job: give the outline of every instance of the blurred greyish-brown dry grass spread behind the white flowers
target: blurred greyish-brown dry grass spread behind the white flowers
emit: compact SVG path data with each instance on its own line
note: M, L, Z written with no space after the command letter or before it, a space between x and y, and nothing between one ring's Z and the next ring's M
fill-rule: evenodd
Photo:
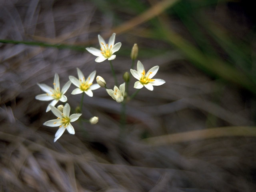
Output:
M0 39L97 45L96 35L109 34L115 27L113 16L92 1L1 0L0 4ZM132 15L113 11L118 16ZM254 124L252 96L209 78L166 43L149 42L146 32L147 26L141 25L117 34L116 40L124 49L135 42L140 49L166 49L139 58L147 69L159 65L157 78L166 84L153 92L143 89L128 103L128 124L121 136L120 104L103 88L94 91L93 98L84 100L83 116L99 116L100 122L76 122L76 134L64 132L56 143L57 129L42 125L54 116L45 113L47 102L35 100L42 93L36 84L51 84L57 72L62 86L68 75L76 76L78 67L86 76L97 70L112 87L108 63L96 64L88 52L0 45L0 191L256 190L255 131L251 127L249 134L241 133L237 127ZM130 60L118 55L113 64L121 82ZM68 102L74 107L80 97L72 96L70 90ZM228 132L208 129L222 126L230 126ZM208 136L202 136L205 132ZM171 142L170 138L156 138L167 134L179 138ZM145 137L152 137L151 144ZM154 142L158 144L152 145Z

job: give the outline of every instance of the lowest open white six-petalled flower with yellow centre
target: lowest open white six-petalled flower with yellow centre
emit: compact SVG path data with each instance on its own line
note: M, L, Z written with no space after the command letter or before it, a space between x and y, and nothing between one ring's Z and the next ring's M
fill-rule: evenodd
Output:
M62 136L62 134L64 133L64 131L66 129L68 130L68 132L70 134L75 134L74 127L71 125L70 122L74 122L74 121L78 120L78 118L82 114L75 113L75 114L69 115L70 114L70 106L68 103L64 106L63 113L52 105L50 105L50 108L52 110L52 113L58 118L46 121L44 123L44 125L49 126L49 127L59 126L59 129L55 134L54 142L56 142L56 140L58 138L60 138L60 136Z

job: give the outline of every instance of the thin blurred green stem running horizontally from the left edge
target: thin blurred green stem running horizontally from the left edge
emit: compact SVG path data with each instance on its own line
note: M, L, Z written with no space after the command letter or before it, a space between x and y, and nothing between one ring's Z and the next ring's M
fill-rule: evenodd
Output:
M42 47L54 47L58 49L73 49L78 51L84 51L84 46L75 46L75 45L67 45L67 44L48 44L43 42L33 42L33 41L15 41L8 39L0 39L0 43L12 43L12 44L25 44L31 46L42 46Z

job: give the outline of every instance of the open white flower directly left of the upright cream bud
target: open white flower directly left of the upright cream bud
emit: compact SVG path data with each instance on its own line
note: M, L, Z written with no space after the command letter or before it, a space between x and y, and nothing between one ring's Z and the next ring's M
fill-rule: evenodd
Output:
M80 94L82 92L85 92L88 96L92 97L93 93L92 90L96 90L98 88L100 88L100 86L98 84L92 84L95 75L96 75L96 71L93 71L88 78L85 80L84 78L84 74L81 72L80 69L77 69L77 74L78 74L78 78L75 78L74 76L69 76L69 80L78 88L74 89L72 91L72 95L76 95L76 94Z

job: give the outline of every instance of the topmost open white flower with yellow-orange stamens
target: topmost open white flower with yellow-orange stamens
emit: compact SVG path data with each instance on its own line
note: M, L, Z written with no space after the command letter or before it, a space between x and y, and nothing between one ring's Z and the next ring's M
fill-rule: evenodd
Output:
M114 44L115 37L116 37L116 34L113 33L112 36L109 38L108 44L106 44L106 42L104 41L102 36L98 35L98 39L99 39L99 43L100 43L100 50L93 48L93 47L86 48L86 50L88 52L90 52L91 54L97 56L95 61L98 63L100 63L106 59L113 60L116 58L116 55L113 55L113 54L115 52L117 52L122 45L120 42Z

